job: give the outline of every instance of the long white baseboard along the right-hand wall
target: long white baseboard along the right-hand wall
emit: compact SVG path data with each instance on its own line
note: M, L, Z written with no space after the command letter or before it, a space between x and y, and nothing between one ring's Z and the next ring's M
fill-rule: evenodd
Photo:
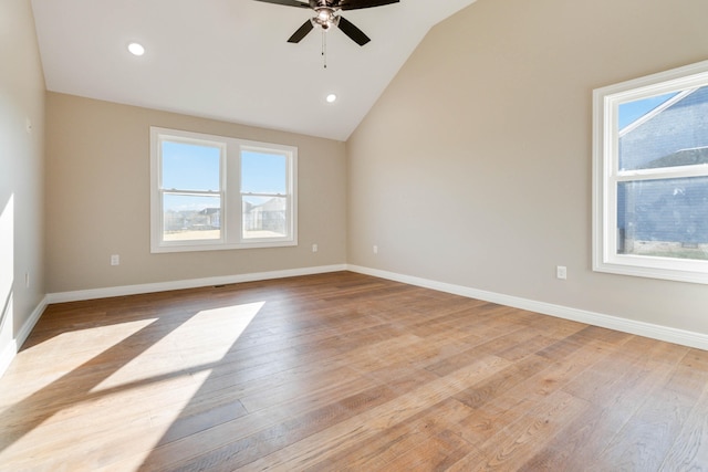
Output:
M514 308L528 310L530 312L555 316L558 318L570 319L570 321L585 323L593 326L600 326L600 327L615 329L623 333L629 333L638 336L649 337L653 339L665 340L667 343L675 343L675 344L680 344L683 346L696 347L698 349L708 350L708 335L702 333L677 329L669 326L655 325L652 323L637 322L634 319L604 315L601 313L589 312L585 310L577 310L577 308L571 308L562 305L554 305L551 303L537 302L533 300L521 298L518 296L503 295L500 293L487 292L482 290L470 289L462 285L455 285L455 284L448 284L444 282L431 281L428 279L414 277L410 275L403 275L395 272L362 268L358 265L347 265L347 270L352 272L358 272L362 274L381 277L381 279L402 282L409 285L416 285L425 289L437 290L440 292L452 293L456 295L467 296L470 298L483 300L486 302L498 303L500 305L512 306Z

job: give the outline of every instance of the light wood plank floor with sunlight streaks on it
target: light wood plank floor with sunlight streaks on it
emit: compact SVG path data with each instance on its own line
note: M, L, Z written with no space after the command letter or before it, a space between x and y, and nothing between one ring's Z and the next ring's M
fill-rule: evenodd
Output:
M347 272L67 303L0 379L0 470L708 470L707 380L702 350Z

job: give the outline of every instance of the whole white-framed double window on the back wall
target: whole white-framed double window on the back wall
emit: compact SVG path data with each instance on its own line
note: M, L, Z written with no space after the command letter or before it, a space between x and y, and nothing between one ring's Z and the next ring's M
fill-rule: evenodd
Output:
M295 245L296 156L150 127L152 252Z

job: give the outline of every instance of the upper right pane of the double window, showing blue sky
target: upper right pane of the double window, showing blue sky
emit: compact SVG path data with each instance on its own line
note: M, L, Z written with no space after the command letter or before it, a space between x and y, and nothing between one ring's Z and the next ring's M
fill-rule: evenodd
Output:
M241 153L241 192L288 192L288 158L279 154L244 150Z

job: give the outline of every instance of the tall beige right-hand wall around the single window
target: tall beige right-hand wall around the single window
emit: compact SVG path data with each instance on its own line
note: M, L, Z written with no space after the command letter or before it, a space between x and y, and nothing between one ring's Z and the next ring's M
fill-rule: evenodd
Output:
M707 18L479 0L438 24L347 141L347 261L708 333L708 286L591 269L592 91L708 59Z

